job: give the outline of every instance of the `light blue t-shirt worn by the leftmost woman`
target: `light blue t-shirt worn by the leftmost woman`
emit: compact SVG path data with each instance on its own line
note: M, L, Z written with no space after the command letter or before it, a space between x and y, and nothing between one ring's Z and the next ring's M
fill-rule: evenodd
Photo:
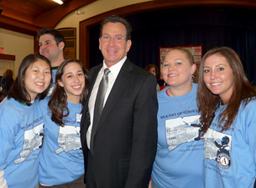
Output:
M39 182L44 124L38 102L27 106L5 98L0 104L0 170L8 188L34 188Z

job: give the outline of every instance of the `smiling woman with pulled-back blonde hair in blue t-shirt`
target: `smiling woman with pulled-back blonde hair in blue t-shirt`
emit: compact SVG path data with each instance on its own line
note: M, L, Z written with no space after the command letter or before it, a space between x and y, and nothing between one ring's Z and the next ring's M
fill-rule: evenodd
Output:
M196 105L196 70L192 54L171 48L162 74L169 85L158 93L158 150L152 171L152 188L202 188L203 141Z

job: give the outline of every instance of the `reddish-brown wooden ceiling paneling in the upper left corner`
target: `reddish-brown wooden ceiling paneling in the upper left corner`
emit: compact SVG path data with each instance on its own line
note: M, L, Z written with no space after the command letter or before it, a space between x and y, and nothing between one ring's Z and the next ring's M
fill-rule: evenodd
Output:
M0 8L3 9L0 15L0 28L36 36L39 28L55 28L67 14L95 1L97 0L66 0L67 3L47 11L49 8L45 9L43 6L47 1L42 3L33 0L34 3L31 3L31 0L0 0ZM10 5L12 3L13 7Z

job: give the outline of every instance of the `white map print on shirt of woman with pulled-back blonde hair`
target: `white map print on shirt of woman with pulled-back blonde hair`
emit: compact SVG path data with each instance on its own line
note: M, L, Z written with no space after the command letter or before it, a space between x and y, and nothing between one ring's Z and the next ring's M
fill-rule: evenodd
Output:
M200 115L165 120L165 134L168 150L179 145L201 140Z

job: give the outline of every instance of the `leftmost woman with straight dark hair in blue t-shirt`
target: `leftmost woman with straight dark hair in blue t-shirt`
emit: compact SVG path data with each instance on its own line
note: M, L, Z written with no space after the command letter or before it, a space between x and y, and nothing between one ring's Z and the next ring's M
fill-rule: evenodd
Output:
M38 105L50 83L50 61L39 54L26 56L0 104L0 187L34 188L39 182L44 130Z

